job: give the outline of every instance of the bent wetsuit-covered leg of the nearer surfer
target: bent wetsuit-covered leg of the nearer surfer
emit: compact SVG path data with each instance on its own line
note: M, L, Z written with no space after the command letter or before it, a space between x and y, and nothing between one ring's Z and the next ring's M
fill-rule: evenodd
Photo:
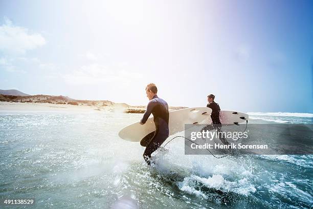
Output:
M145 161L148 163L148 165L151 164L150 162L151 154L161 146L161 144L167 139L167 137L168 130L163 131L163 133L160 132L159 130L155 131L153 138L147 145L145 152L143 154L143 157Z

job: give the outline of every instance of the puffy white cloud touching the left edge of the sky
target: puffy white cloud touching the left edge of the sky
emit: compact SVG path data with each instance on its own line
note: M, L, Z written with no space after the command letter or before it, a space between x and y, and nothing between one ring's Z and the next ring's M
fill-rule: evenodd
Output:
M4 20L4 24L0 26L0 51L5 54L25 54L28 50L46 44L46 40L40 33L14 26L7 17Z

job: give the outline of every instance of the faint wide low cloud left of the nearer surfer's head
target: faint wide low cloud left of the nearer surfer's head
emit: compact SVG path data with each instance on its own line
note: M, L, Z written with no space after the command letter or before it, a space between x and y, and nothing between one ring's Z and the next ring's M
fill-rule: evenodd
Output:
M142 78L142 74L130 72L117 67L107 67L100 64L82 66L70 74L62 76L66 83L71 85L93 85L98 83L119 83L127 85Z

